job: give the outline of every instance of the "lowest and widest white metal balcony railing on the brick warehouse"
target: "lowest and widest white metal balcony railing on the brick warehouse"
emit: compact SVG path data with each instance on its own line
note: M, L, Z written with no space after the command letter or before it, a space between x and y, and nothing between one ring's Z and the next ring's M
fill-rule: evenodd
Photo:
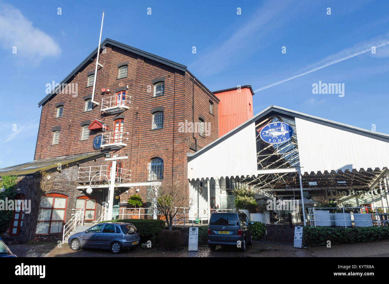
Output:
M102 182L111 176L109 165L79 167L77 180L79 182ZM126 184L131 181L131 170L116 167L115 183Z

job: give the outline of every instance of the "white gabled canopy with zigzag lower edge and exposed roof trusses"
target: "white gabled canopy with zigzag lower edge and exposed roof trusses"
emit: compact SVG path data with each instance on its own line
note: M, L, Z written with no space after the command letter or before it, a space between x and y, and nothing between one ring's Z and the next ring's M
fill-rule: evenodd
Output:
M287 123L291 139L259 137L269 123ZM389 166L389 135L270 106L194 154L188 179L234 177L257 188L370 187Z

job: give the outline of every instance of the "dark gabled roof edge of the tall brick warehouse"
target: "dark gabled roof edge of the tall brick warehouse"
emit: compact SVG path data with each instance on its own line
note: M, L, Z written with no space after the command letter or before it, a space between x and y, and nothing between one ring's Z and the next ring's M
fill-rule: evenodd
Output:
M158 56L158 55L155 55L155 54L152 54L152 53L149 53L149 52L146 52L144 50L140 50L138 48L135 48L135 47L132 47L130 45L126 45L124 43L121 43L121 42L117 42L116 40L111 40L110 38L106 38L100 45L100 48L105 46L105 45L112 45L114 47L118 47L118 48L121 48L123 50L126 50L126 51L129 51L129 52L133 52L135 54L138 54L140 56L143 56L145 58L148 58L148 59L151 59L153 61L156 61L156 62L159 62L161 64L164 64L166 66L169 66L169 67L172 67L172 68L175 68L179 71L182 71L182 72L188 72L191 76L193 76L193 74L191 74L185 65L182 65L180 63L177 63L177 62L174 62L174 61L171 61L169 59L166 59L166 58L163 58L161 56ZM75 74L77 74L82 68L84 68L86 65L90 64L90 60L94 60L94 57L97 55L97 48L95 48L95 50L93 50L93 52L91 54L89 54L72 72L70 72L68 74L68 76L66 76L65 79L63 79L60 83L60 85L62 84L65 84L65 83L68 83L70 82L72 79L73 79L73 76ZM208 90L211 94L212 92L207 88L205 87L205 85L203 85L203 83L201 83L195 76L193 76L196 81L198 81L206 90ZM44 97L39 103L38 103L38 107L42 106L43 104L45 104L53 95L55 95L55 90L56 88L54 88L49 94L46 95L46 97ZM212 94L213 95L213 94ZM219 101L219 99L217 99L217 97L214 95L215 99L217 101Z

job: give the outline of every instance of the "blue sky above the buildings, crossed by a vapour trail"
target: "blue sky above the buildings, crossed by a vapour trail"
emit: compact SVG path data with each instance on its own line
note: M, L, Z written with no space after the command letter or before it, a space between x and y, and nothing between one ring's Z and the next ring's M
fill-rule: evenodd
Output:
M102 40L184 64L210 90L261 89L254 114L273 104L389 133L388 1L0 0L0 168L33 160L37 103L96 48L102 10ZM312 94L319 81L344 97Z

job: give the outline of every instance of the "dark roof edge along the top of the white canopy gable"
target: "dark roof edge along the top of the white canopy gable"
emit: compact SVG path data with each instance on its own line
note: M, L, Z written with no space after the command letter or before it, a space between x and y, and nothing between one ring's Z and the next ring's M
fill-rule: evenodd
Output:
M197 151L197 152L195 152L193 154L187 154L187 161L189 162L192 159L194 159L195 157L197 157L197 156L203 154L204 152L212 149L212 147L214 147L217 144L221 143L222 141L228 139L229 137L231 137L235 133L239 132L240 130L244 129L246 126L250 125L251 123L253 123L253 122L255 122L255 121L257 121L257 120L259 120L261 118L265 118L265 117L276 115L276 114L285 116L287 118L301 118L301 119L305 119L307 121L312 121L312 122L315 122L315 123L319 123L321 125L326 125L326 126L330 126L330 127L336 128L336 129L345 130L345 131L348 131L348 132L356 133L356 134L363 135L363 136L366 136L366 137L370 137L370 138L373 138L373 139L381 140L381 141L384 141L384 142L389 142L389 135L385 134L385 133L374 132L374 131L366 130L366 129L359 128L359 127L356 127L356 126L347 125L347 124L344 124L344 123L340 123L340 122L336 122L336 121L332 121L332 120L328 120L328 119L324 119L324 118L319 118L317 116L312 116L312 115L309 115L309 114L300 113L298 111L292 111L291 109L286 109L284 107L269 106L266 109L264 109L263 111L261 111L260 113L256 114L252 118L250 118L249 120L245 121L241 125L239 125L236 128L234 128L230 132L228 132L228 133L224 134L223 136L219 137L219 139L216 139L212 143L210 143L207 146L203 147L199 151Z

